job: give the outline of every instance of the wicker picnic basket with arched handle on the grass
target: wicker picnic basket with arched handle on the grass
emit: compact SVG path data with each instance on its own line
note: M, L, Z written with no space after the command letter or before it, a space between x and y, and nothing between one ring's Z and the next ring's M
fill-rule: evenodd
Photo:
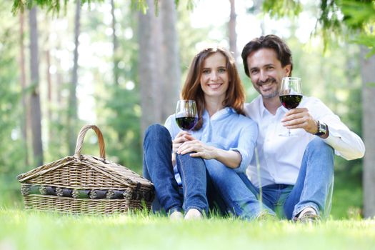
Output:
M86 131L94 129L100 158L81 154ZM95 125L79 131L74 156L17 176L26 209L73 214L113 214L151 209L154 185L134 171L106 159L104 139Z

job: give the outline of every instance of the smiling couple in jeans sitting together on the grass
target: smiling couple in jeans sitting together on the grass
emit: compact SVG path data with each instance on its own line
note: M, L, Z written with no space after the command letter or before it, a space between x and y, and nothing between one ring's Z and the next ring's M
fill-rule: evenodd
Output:
M153 209L171 219L200 219L214 208L247 220L327 216L334 154L360 158L363 141L319 99L281 106L281 79L291 76L293 62L278 36L250 41L241 56L260 94L250 104L229 51L204 49L181 91L181 99L196 101L197 125L182 131L173 114L147 129L144 176L156 189Z

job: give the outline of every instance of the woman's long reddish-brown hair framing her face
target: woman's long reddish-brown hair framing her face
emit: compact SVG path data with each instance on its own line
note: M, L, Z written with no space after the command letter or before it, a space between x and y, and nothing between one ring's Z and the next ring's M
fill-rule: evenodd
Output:
M201 74L204 66L204 60L216 52L219 52L225 56L226 70L228 71L229 76L229 87L226 90L223 106L229 106L236 110L238 114L244 114L245 91L244 86L241 84L241 79L239 77L239 72L237 71L233 56L231 56L229 51L226 51L226 49L221 47L207 48L194 56L193 61L191 61L184 87L181 91L181 99L196 101L196 109L198 110L199 119L198 123L194 127L194 130L201 129L203 125L202 116L205 105L204 92L201 89Z

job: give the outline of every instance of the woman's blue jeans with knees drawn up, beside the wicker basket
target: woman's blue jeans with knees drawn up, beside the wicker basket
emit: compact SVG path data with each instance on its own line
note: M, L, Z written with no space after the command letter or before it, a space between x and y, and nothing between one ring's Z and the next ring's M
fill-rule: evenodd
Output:
M206 164L189 154L176 155L176 166L181 176L182 188L174 179L171 164L172 140L169 131L159 124L149 126L144 137L144 177L154 183L156 199L154 211L164 209L189 211L198 209L208 213L209 205L223 206L211 185Z

